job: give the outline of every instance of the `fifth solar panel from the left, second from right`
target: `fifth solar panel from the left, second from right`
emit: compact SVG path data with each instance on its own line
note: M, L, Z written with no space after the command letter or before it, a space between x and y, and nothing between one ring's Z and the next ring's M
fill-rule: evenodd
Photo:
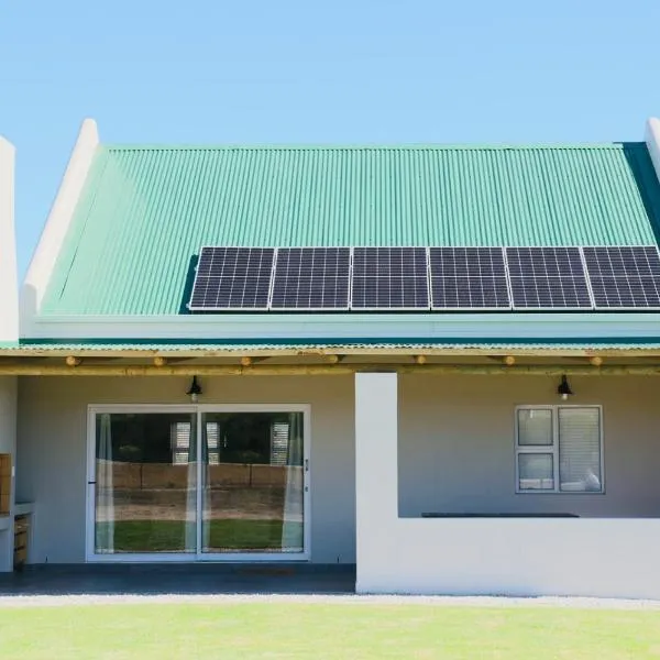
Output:
M593 307L579 248L507 248L514 309Z

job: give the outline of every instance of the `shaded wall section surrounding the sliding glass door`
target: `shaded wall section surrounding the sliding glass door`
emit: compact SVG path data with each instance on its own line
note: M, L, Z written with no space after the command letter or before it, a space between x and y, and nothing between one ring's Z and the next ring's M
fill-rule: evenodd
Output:
M311 559L355 561L351 377L205 378L200 403L311 405ZM32 561L85 561L87 406L188 404L188 378L23 378L16 487L35 503Z

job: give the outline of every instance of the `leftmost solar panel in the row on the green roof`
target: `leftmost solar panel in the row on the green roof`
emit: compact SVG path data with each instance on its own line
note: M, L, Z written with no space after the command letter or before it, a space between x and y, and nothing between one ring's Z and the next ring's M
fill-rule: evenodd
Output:
M267 309L274 255L273 248L202 248L188 308Z

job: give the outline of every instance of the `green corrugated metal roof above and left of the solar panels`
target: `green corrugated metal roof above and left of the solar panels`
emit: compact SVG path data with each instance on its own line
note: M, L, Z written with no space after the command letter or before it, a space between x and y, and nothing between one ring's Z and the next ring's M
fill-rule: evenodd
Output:
M659 211L642 143L101 146L42 314L177 314L204 244L649 244Z

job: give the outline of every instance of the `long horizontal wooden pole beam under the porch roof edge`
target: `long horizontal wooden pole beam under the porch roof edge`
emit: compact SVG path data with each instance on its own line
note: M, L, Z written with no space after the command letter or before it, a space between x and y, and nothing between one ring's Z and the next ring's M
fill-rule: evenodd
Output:
M399 374L437 375L535 375L535 376L660 376L657 365L603 365L595 370L591 364L564 366L506 366L504 364L263 364L242 366L238 364L87 364L76 369L62 364L13 363L0 364L0 375L14 376L280 376L280 375L352 375L356 372L393 372Z

